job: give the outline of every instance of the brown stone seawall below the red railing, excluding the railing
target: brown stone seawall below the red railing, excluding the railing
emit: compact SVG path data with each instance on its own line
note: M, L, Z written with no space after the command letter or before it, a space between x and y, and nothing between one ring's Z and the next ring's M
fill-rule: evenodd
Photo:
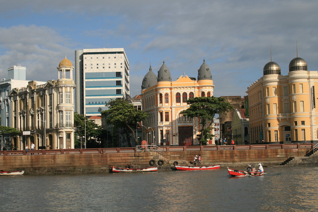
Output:
M201 154L202 165L220 164L221 167L239 167L247 164L262 163L263 166L280 165L289 157L304 157L310 149L263 149L263 150L220 150L220 151L180 151L130 153L86 153L86 154L45 154L1 156L0 169L4 171L24 170L25 173L105 173L111 166L149 167L149 161L156 161L159 169L170 169L173 163L190 165L195 155ZM312 157L315 157L313 155ZM308 160L311 157L305 157ZM164 164L159 166L158 160ZM297 165L308 164L308 161L297 160ZM313 162L314 161L314 162ZM317 164L317 159L310 165ZM292 165L292 164L290 164Z

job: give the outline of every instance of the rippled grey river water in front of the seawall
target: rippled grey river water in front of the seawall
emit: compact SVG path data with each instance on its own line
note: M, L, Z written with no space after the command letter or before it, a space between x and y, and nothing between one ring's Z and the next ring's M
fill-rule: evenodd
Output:
M1 211L318 211L318 166L0 176Z

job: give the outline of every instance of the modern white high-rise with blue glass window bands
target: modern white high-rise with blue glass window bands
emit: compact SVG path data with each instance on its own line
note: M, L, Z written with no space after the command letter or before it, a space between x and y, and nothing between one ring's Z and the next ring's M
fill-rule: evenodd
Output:
M75 110L100 116L111 99L129 94L129 63L123 48L75 51Z

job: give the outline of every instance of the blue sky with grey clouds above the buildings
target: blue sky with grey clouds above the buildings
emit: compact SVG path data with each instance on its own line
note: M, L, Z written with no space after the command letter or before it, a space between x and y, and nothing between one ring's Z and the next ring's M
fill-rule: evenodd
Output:
M297 56L318 70L318 1L0 0L0 78L26 67L27 80L57 80L75 50L124 48L131 95L151 64L165 61L176 81L210 67L214 96L244 96L277 62L283 75Z

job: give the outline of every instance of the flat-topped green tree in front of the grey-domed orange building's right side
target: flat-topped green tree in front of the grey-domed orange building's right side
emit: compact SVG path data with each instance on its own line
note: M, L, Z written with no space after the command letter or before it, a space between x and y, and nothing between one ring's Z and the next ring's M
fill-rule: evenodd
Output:
M208 139L211 139L214 135L210 133L213 124L213 118L215 114L226 113L234 110L230 102L225 102L225 98L222 97L195 97L188 99L187 103L190 107L187 110L183 110L181 114L188 117L197 117L199 124L202 128L199 131L200 145L206 144ZM208 123L207 123L208 122Z

